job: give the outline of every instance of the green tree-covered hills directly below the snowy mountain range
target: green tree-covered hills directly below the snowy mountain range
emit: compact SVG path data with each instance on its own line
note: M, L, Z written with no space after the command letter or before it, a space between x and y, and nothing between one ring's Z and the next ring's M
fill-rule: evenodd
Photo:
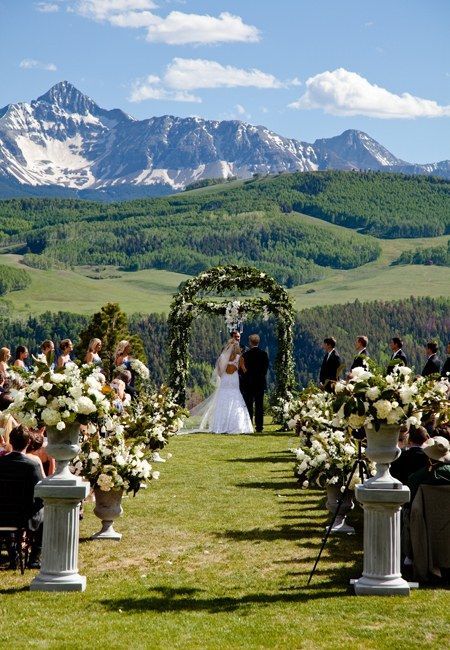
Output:
M378 258L376 237L450 232L450 183L378 172L308 172L203 187L154 199L102 204L75 199L0 202L0 241L24 243L30 266L115 265L195 275L251 264L293 286L323 267ZM298 213L349 228L333 233ZM356 229L359 233L351 232Z

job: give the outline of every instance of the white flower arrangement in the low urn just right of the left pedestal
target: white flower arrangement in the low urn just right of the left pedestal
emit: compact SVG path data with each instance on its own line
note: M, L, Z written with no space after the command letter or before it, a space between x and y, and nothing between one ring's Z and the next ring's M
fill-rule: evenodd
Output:
M159 478L159 472L152 470L149 461L150 455L143 444L128 446L121 435L93 436L81 445L74 469L92 487L104 492L124 490L136 494L150 480Z

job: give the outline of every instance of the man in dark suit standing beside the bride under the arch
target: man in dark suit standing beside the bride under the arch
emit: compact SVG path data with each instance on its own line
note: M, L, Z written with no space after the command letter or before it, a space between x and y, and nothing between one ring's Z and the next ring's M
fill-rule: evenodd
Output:
M259 335L251 334L248 337L250 348L242 355L243 373L241 391L247 405L250 419L253 421L255 414L255 430L263 430L264 417L264 391L266 389L266 375L269 369L267 352L259 347Z

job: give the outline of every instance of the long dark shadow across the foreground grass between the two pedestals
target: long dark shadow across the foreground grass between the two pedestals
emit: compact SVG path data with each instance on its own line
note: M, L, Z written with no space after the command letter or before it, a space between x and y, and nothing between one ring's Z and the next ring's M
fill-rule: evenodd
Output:
M346 569L346 575L348 569ZM314 599L340 598L347 595L348 589L339 588L335 581L321 582L320 588L297 587L294 593L253 593L245 596L216 596L202 597L201 589L170 589L154 587L151 592L155 595L144 598L108 598L101 600L100 604L110 611L123 612L200 612L210 614L219 612L233 612L252 605L271 605L274 603L301 603ZM328 587L328 588L325 588ZM338 588L338 590L337 590Z

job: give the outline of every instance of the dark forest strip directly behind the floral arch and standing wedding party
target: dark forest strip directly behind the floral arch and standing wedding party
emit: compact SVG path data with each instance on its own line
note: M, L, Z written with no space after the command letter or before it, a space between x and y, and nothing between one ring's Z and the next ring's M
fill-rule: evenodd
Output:
M59 312L46 313L39 318L18 320L5 313L0 315L2 345L14 348L27 345L37 351L46 338L56 342L66 336L77 340L78 332L86 327L89 318ZM167 319L163 315L135 314L129 319L130 331L139 334L144 343L152 379L161 383L167 373ZM261 334L262 346L275 358L275 323L249 322L245 324L243 340L252 331ZM445 356L445 345L450 336L450 299L410 298L398 302L360 303L331 307L316 307L297 314L295 324L295 363L297 377L305 385L316 379L323 357L321 342L325 336L335 336L338 349L347 367L354 356L354 341L360 334L369 337L372 358L386 364L392 336L404 339L404 350L410 363L420 370L425 361L424 343L429 339L439 342L440 354ZM202 389L208 384L211 368L227 336L220 318L199 318L192 329L191 352L194 361L191 384Z

